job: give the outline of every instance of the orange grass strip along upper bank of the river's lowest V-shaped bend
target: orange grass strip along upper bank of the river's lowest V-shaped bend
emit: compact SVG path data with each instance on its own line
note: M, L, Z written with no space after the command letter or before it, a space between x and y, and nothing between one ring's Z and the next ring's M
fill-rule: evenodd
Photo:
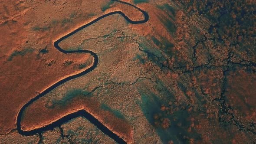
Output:
M105 111L95 98L78 95L68 101L66 105L55 105L54 108L46 108L46 101L36 101L24 111L21 127L24 131L42 128L47 124L79 110L88 111L108 129L123 138L128 144L132 143L133 130L125 120L115 117L110 111Z

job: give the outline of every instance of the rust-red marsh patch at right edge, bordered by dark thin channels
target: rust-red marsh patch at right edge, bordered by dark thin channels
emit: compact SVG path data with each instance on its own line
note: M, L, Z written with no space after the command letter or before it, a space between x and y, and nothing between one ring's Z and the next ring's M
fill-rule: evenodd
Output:
M233 113L246 121L256 121L256 74L238 68L227 76L225 96Z

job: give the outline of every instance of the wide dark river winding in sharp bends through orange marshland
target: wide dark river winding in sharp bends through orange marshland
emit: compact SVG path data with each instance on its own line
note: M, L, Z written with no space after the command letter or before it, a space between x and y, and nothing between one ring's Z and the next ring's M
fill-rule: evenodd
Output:
M35 98L32 98L29 102L27 102L25 105L23 105L23 107L20 109L19 113L18 113L18 116L17 116L17 121L16 121L16 124L17 124L17 130L20 134L23 134L23 135L33 135L33 134L36 134L36 133L42 133L43 131L46 131L46 130L51 130L55 127L58 127L60 125L62 125L63 123L71 120L72 118L76 118L76 117L79 117L79 116L83 116L85 117L86 119L88 119L92 124L94 124L99 130L101 130L103 133L107 134L109 137L111 137L113 140L115 140L116 142L118 142L119 144L126 144L126 142L118 137L117 134L115 134L114 132L112 132L111 130L109 130L107 127L105 127L105 125L103 125L100 121L98 121L98 119L96 119L93 115L91 115L90 113L88 113L87 111L85 110L80 110L80 111L77 111L75 113L72 113L72 114L69 114L69 115L66 115L62 118L60 118L59 120L51 123L51 124L48 124L46 125L45 127L42 127L42 128L37 128L37 129L34 129L34 130L31 130L31 131L23 131L21 129L21 117L22 117L22 114L24 112L24 110L30 105L32 104L34 101L38 100L40 97L43 97L44 95L46 95L48 92L52 91L54 88L58 87L59 85L63 84L64 82L67 82L71 79L75 79L79 76L82 76L82 75L85 75L89 72L91 72L93 69L95 69L98 65L98 56L96 55L96 53L90 51L90 50L73 50L73 51L66 51L64 49L62 49L60 46L59 46L59 43L68 38L69 36L72 36L73 34L77 33L78 31L84 29L85 27L87 26L90 26L96 22L98 22L99 20L107 17L107 16L111 16L113 14L120 14L121 16L123 16L125 18L125 20L127 20L129 23L132 23L132 24L140 24L140 23L146 23L149 19L149 16L148 16L148 13L146 13L145 11L141 10L140 8L130 4L130 3L126 3L126 2L123 2L123 1L119 1L119 0L112 0L112 1L117 1L119 3L124 3L124 4L127 4L131 7L135 7L137 10L141 11L144 15L144 20L139 20L139 21L132 21L130 20L127 16L125 16L124 13L122 13L121 11L114 11L114 12L111 12L111 13L107 13L103 16L100 16L98 17L97 19L95 20L92 20L90 23L87 23L81 27L79 27L78 29L75 29L74 31L72 31L71 33L67 34L66 36L63 36L61 37L60 39L58 39L56 42L54 42L54 46L56 49L58 49L60 52L64 53L64 54L70 54L70 53L90 53L93 58L94 58L94 63L92 65L92 67L90 67L89 69L86 69L85 71L79 73L79 74L76 74L76 75L72 75L72 76L69 76L65 79L62 79L60 80L59 82L56 82L55 84L53 84L52 86L50 86L49 88L47 88L45 91L43 91L42 93L40 93L39 95L37 95Z

